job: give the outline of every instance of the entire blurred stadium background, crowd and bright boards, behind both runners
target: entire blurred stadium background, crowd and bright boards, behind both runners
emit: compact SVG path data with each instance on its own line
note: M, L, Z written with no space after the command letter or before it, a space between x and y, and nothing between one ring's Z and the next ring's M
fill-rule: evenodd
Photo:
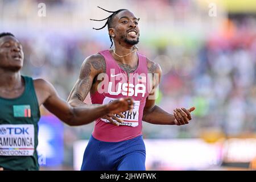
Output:
M195 106L185 126L143 122L147 170L256 169L255 0L0 0L0 32L22 43L23 75L66 100L84 59L109 49L107 10L141 18L139 52L163 70L157 104ZM90 98L86 99L90 102ZM79 170L90 125L70 127L41 107L41 170Z

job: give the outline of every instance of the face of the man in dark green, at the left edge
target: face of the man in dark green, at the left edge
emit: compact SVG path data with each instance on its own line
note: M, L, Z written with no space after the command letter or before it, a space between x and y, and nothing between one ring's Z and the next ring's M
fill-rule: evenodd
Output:
M19 71L23 66L24 53L19 41L13 36L0 38L0 67Z

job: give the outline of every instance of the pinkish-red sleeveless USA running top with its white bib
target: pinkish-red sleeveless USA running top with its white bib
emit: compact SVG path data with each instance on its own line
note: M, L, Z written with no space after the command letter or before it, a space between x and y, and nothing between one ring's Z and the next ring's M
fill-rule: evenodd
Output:
M96 119L92 135L104 142L120 142L138 137L142 134L143 108L149 90L146 57L138 53L137 69L127 74L109 50L101 51L100 54L106 61L106 74L98 75L98 79L104 80L98 85L97 91L91 94L92 104L108 104L121 97L132 97L135 105L132 112L123 112L125 118L122 126L115 126L105 119Z

